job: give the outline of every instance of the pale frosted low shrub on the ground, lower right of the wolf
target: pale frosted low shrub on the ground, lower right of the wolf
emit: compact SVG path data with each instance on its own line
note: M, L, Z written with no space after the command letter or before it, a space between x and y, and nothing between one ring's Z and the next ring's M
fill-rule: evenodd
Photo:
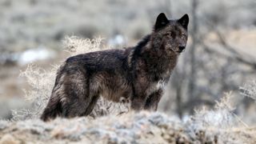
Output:
M234 130L247 129L249 126L234 114L234 96L226 93L216 101L214 109L205 106L195 110L195 114L185 122L190 138L196 138L201 143L242 143L239 138L231 134Z

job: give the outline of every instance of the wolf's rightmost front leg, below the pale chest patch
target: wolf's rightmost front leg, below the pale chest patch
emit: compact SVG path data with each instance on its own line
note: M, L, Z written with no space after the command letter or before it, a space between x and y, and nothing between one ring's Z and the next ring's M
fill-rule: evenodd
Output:
M162 98L162 89L156 90L146 99L145 110L158 110L158 102Z

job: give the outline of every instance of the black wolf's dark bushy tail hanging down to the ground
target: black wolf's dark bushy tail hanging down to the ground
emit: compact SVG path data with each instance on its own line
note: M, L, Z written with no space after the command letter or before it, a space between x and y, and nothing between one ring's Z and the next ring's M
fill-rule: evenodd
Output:
M46 122L62 114L62 103L58 97L51 97L40 119Z

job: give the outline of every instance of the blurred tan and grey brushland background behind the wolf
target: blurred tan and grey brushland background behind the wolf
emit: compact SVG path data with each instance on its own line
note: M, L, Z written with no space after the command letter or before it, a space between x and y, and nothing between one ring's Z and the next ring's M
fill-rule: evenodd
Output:
M234 113L256 123L256 104L240 90L256 80L255 0L0 0L0 118L29 107L21 70L31 62L46 70L59 63L66 35L134 46L161 12L189 14L190 38L159 109L184 118L232 91Z

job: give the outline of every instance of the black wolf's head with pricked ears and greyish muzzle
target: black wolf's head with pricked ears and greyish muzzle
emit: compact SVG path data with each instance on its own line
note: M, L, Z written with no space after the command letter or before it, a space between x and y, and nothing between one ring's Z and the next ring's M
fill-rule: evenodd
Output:
M154 47L165 50L166 54L182 53L186 48L188 23L187 14L175 20L168 20L165 14L159 14L152 34Z

